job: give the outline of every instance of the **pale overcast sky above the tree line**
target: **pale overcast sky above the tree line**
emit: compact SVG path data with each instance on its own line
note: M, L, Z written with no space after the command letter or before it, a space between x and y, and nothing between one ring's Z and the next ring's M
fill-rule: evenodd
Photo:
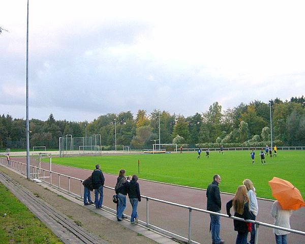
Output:
M183 2L183 4L181 3ZM29 117L193 115L305 95L303 1L29 1ZM25 118L26 0L1 4L0 113Z

